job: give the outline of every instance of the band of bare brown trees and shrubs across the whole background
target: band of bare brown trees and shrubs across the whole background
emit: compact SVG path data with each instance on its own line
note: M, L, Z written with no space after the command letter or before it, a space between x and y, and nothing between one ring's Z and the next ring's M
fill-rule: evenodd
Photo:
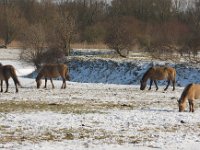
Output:
M200 48L200 0L186 2L0 0L1 45L20 41L22 58L37 67L69 56L71 44L81 42L105 43L122 57L137 45L155 57L192 58Z

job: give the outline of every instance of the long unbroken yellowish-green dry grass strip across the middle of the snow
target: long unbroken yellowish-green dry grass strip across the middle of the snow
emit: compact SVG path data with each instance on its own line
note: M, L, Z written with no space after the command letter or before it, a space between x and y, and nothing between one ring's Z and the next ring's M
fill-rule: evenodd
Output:
M45 103L45 102L23 102L23 101L4 101L0 103L0 112L39 112L52 111L60 113L103 113L110 109L128 109L137 108L134 104L120 103Z

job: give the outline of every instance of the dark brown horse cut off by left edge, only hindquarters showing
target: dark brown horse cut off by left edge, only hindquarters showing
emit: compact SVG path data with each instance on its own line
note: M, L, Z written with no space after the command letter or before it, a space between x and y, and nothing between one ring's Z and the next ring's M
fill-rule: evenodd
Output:
M3 92L3 80L5 80L6 82L6 92L8 92L8 87L9 87L9 83L8 80L10 79L10 77L13 79L14 83L15 83L15 88L16 88L16 92L18 92L18 85L21 86L16 72L15 72L15 68L12 65L2 65L0 63L0 80L1 80L1 92Z

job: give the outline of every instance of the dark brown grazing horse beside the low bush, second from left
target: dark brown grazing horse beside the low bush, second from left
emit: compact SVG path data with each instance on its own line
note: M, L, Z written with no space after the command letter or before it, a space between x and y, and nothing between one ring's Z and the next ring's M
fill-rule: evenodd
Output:
M45 78L45 86L44 88L47 87L47 78L50 79L52 88L54 88L54 84L52 81L52 78L56 77L62 77L63 84L61 86L62 89L66 88L66 80L69 80L69 72L68 72L68 67L65 64L46 64L42 66L40 72L38 73L36 77L36 83L37 83L37 88L40 88L42 82L41 78Z

